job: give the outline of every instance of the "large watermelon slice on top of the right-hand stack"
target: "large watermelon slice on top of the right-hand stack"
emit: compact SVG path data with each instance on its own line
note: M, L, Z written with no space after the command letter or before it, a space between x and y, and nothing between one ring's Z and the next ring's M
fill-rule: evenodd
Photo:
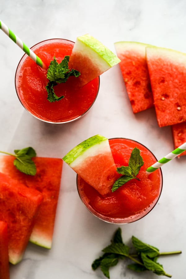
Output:
M160 127L186 121L186 54L146 47L157 122Z

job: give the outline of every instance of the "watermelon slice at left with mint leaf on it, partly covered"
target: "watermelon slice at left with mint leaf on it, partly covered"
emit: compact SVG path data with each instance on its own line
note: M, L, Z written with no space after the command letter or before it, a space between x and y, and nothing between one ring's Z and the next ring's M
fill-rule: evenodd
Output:
M43 202L35 219L30 241L50 249L63 161L59 158L35 157L33 161L37 172L31 176L17 170L13 165L14 159L13 156L0 156L0 171L42 193Z

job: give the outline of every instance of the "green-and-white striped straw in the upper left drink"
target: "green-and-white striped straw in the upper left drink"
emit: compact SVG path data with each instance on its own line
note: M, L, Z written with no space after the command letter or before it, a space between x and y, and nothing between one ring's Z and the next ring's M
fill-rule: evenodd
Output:
M29 57L42 69L47 69L46 65L42 62L42 60L27 47L24 42L20 40L8 27L0 20L0 29L9 37L13 42L16 43Z

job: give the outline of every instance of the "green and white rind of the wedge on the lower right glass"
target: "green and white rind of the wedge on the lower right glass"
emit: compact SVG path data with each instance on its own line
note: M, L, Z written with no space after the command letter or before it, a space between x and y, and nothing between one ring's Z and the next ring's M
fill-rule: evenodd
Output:
M105 141L108 141L108 139L102 135L92 136L75 146L62 159L68 165L73 167L74 165L79 164L80 161L83 161L85 157L96 153L98 149L101 150L102 144L104 144Z

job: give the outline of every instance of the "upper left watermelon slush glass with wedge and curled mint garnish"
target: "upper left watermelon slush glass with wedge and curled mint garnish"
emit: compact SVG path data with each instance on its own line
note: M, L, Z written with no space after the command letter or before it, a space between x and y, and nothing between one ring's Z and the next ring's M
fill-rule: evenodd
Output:
M15 88L24 108L50 123L71 122L83 116L94 104L100 74L120 60L89 34L76 42L50 39L31 50L46 69L26 54L15 74Z

